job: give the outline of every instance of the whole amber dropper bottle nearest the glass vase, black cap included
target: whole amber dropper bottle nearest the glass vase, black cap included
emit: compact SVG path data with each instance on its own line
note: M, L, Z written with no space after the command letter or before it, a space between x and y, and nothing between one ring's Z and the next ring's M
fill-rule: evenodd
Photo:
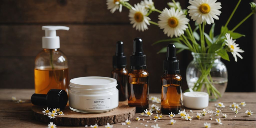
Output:
M177 114L182 108L182 77L179 75L179 60L174 44L167 45L164 60L164 75L161 77L161 110Z

